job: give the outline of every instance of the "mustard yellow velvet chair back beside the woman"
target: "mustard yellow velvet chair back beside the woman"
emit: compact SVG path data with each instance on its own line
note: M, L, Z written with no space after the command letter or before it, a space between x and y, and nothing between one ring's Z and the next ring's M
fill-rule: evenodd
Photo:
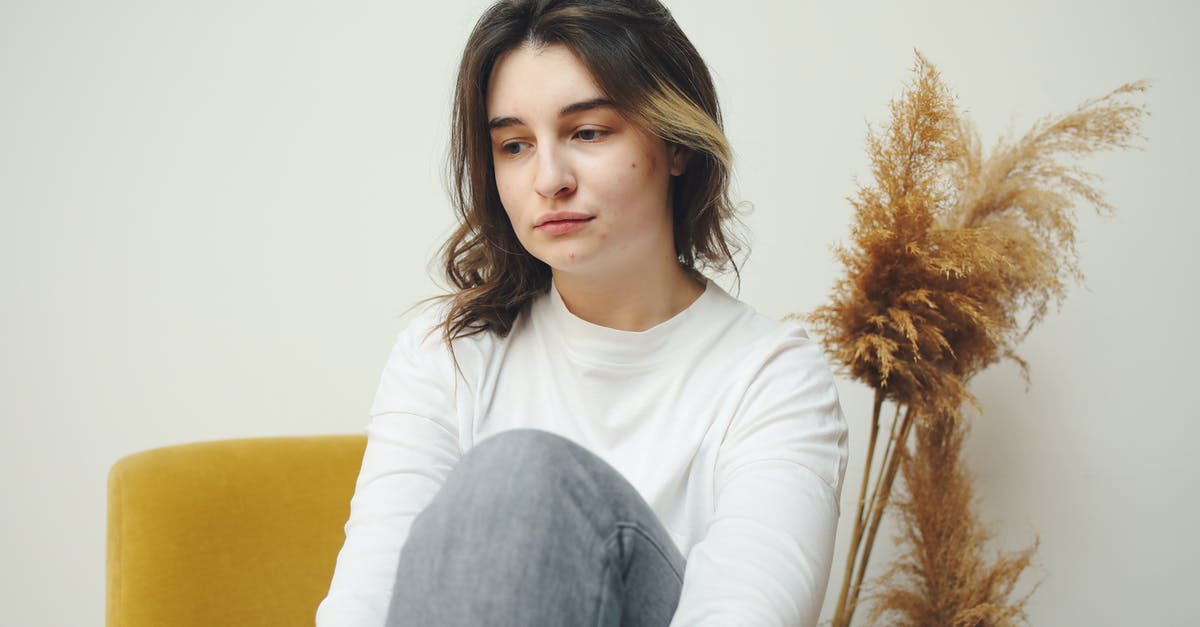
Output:
M108 478L108 627L312 625L362 436L229 440L121 459Z

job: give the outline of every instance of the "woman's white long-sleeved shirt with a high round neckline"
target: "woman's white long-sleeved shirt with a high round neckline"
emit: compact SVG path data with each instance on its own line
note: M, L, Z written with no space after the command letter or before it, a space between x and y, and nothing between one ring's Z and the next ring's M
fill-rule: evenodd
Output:
M833 559L846 424L820 347L708 282L644 332L574 316L553 288L505 338L402 332L367 425L320 627L382 627L413 518L488 436L542 429L616 467L686 557L672 627L812 626Z

